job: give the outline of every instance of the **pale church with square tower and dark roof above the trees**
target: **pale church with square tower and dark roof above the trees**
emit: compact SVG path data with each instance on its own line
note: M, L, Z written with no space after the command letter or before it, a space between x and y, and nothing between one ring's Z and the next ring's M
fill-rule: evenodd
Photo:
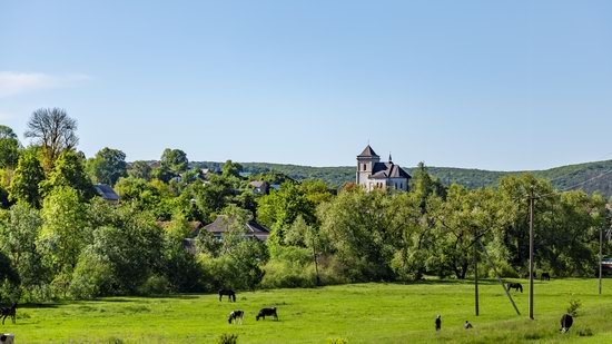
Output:
M393 164L391 154L388 163L381 163L381 157L367 145L357 156L357 181L366 191L408 190L411 175L398 165Z

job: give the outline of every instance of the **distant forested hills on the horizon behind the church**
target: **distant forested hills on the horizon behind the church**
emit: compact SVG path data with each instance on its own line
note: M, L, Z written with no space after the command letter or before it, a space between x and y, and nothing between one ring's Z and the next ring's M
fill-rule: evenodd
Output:
M203 165L209 165L204 163ZM344 183L355 180L355 167L310 167L298 165L282 165L267 163L241 163L244 171L258 174L264 171L278 171L300 180L306 178L323 179L334 187ZM428 171L442 183L450 185L457 183L470 188L483 186L496 186L501 177L512 174L532 173L536 177L546 178L553 181L557 189L567 189L579 185L578 188L586 193L595 190L605 196L612 196L612 160L567 165L545 170L532 171L492 171L482 169L453 168L453 167L427 167ZM414 168L408 169L411 173Z

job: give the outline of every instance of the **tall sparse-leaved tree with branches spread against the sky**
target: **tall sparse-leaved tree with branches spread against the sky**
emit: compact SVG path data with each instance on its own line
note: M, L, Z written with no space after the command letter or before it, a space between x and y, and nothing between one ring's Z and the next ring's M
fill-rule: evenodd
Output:
M50 170L62 151L77 147L77 120L60 108L41 108L28 121L26 137L42 148L45 168Z

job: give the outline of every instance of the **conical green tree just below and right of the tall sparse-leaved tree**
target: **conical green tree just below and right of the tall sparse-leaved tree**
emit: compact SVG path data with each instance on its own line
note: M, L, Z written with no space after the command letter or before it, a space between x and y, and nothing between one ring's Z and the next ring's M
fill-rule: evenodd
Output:
M82 199L89 199L96 195L85 170L85 159L73 150L66 150L59 156L49 178L41 183L40 187L46 194L57 187L71 187Z

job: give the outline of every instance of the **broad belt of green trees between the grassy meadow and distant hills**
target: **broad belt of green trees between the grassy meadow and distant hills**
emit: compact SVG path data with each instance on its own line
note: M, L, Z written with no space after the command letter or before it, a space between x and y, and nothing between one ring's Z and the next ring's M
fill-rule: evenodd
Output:
M61 109L37 110L28 128L23 147L0 127L2 301L466 278L474 255L484 259L475 239L503 276L519 276L532 194L536 268L593 276L599 233L610 227L601 195L560 193L531 175L467 189L445 186L421 165L409 193L330 190L279 173L244 177L230 160L205 173L179 149L158 163L128 164L111 148L88 159L76 149L77 122ZM251 180L280 188L257 194ZM120 203L98 197L95 183L113 186ZM218 215L229 228L223 240L200 225ZM272 229L266 243L246 238L253 219Z

